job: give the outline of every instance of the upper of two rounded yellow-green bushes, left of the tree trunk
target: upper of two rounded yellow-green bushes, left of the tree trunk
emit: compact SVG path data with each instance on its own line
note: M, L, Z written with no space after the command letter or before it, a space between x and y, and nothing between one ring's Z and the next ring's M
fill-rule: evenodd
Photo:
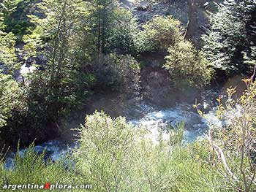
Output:
M170 16L157 16L143 24L136 41L140 52L166 52L181 41L181 22Z

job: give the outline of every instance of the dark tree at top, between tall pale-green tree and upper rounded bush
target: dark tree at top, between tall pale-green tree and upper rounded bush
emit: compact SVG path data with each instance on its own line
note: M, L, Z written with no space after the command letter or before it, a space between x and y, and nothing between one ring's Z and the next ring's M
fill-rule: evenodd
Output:
M89 26L94 34L97 58L113 52L127 53L133 49L137 23L132 13L117 0L93 0Z

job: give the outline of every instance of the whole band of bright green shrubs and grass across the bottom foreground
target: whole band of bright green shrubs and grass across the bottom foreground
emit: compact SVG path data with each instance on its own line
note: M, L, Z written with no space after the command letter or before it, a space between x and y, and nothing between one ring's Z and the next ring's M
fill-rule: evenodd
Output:
M170 141L160 137L156 143L148 138L146 130L128 124L125 118L113 119L95 112L80 128L80 147L71 156L75 167L67 169L63 161L45 162L43 154L38 155L30 147L23 158L16 155L14 169L6 170L0 162L0 185L91 184L90 191L95 192L238 191L222 174L225 168L212 161L210 143L203 140L182 145L183 131L181 123L172 131Z

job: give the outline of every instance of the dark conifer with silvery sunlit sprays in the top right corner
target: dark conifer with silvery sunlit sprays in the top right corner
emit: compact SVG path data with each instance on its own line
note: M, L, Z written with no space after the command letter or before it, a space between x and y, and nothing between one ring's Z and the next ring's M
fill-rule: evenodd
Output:
M255 20L255 1L224 1L204 38L204 49L215 68L233 74L246 71L246 63L255 62Z

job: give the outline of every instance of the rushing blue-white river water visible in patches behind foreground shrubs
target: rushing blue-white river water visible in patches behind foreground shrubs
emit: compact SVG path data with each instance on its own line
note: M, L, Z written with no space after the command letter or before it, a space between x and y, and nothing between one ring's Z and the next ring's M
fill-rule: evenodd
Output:
M208 95L217 95L217 93L212 94L212 91L208 91ZM204 101L204 106L208 106L213 98ZM215 116L216 104L211 103L211 109L208 110L206 115L202 118L197 114L195 109L193 109L192 104L176 104L176 107L165 107L165 109L156 109L141 101L136 108L127 109L129 112L127 114L132 114L140 112L139 117L132 117L132 115L127 115L127 121L136 126L143 126L148 129L148 137L153 141L159 139L159 133L162 132L163 139L170 139L168 134L168 128L170 126L176 127L177 123L184 122L184 142L193 142L200 137L204 137L208 132L208 128L211 124L222 126L222 122ZM58 161L72 149L79 145L78 142L72 142L71 145L59 140L53 140L45 142L42 145L34 146L34 150L41 154L45 150L45 159L51 158L52 161ZM18 150L19 155L23 156L26 149ZM12 169L15 166L15 153L12 152L8 155L5 168Z

